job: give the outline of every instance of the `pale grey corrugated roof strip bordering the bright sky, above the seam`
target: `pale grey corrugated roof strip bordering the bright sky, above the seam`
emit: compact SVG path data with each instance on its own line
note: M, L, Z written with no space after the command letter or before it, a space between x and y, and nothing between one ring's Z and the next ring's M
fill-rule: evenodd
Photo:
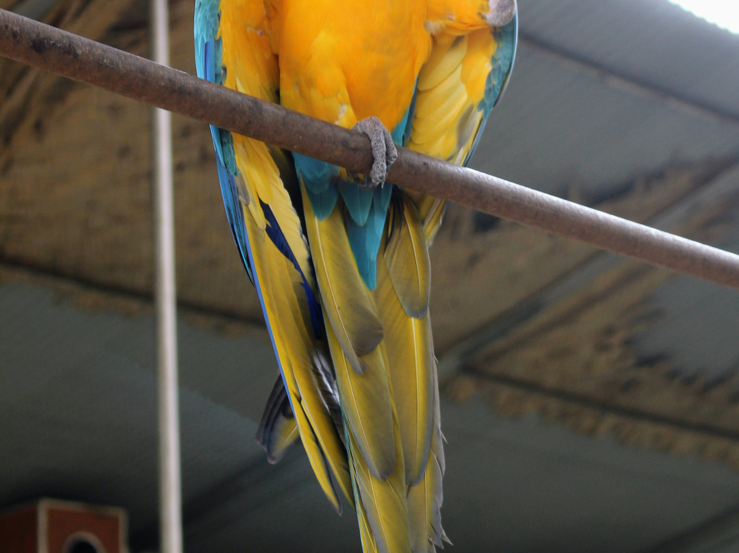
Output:
M739 118L739 35L667 0L521 0L522 38Z

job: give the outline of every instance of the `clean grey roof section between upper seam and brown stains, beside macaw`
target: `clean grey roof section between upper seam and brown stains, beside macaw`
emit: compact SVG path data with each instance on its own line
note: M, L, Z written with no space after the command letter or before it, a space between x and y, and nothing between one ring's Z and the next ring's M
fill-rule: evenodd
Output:
M739 58L739 51L738 51ZM553 194L607 197L665 166L739 155L739 125L624 89L523 43L472 165Z

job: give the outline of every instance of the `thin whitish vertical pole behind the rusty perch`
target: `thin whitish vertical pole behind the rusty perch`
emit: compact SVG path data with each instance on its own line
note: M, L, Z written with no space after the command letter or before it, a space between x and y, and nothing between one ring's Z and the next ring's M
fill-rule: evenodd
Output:
M154 61L169 65L167 0L151 1L150 40ZM160 552L183 551L180 489L180 414L177 402L177 307L174 282L171 115L152 110L154 166L154 296L157 304L159 406Z

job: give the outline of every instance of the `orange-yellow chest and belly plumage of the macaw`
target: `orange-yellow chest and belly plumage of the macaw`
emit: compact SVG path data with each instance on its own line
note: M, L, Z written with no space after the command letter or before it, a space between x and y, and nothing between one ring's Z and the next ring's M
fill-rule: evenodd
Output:
M283 0L280 101L342 126L374 115L393 129L429 56L426 0Z

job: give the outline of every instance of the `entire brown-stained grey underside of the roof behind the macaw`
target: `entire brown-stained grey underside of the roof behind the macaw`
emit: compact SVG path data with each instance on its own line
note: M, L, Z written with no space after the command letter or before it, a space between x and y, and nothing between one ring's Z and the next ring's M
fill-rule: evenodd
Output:
M146 55L143 0L0 7ZM739 37L667 0L519 7L472 166L739 251ZM123 506L154 551L149 108L0 75L0 508ZM253 440L276 362L208 129L175 117L174 147L185 549L358 550L302 450ZM432 270L453 551L739 551L736 291L458 207Z

